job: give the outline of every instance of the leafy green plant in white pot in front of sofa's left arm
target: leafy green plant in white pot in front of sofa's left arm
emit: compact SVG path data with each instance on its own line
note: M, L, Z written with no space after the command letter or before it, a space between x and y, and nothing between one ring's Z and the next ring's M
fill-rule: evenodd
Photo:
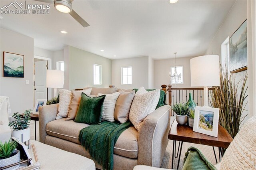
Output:
M27 141L30 139L30 113L31 110L26 110L24 116L14 113L12 117L14 117L15 121L9 123L9 127L12 127L12 136L15 138L21 139L21 142Z

